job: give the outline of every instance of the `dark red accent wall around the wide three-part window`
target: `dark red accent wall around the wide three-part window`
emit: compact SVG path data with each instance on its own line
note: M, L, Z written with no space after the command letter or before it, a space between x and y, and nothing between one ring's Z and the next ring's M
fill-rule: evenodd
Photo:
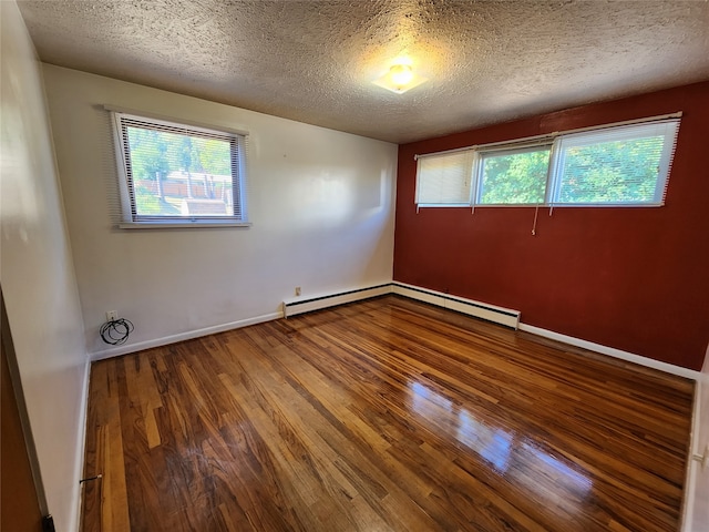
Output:
M682 111L662 207L421 208L414 154ZM700 370L709 342L709 82L399 147L394 280Z

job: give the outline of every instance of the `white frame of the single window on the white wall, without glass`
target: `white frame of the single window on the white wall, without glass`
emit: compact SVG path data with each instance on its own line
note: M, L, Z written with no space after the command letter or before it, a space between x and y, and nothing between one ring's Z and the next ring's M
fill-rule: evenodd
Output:
M143 112L104 106L111 114L113 126L122 229L135 228L194 228L194 227L250 227L246 198L246 147L248 132L228 127L198 124L179 119L163 117ZM124 123L124 119L126 123ZM232 214L226 215L140 215L130 160L127 127L171 132L197 139L216 139L229 142L232 173ZM154 126L154 127L151 127Z

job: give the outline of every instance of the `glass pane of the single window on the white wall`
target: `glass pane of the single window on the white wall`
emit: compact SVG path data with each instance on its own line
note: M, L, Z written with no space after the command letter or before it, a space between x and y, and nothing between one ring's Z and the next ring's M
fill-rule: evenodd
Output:
M125 127L137 217L234 215L232 142Z

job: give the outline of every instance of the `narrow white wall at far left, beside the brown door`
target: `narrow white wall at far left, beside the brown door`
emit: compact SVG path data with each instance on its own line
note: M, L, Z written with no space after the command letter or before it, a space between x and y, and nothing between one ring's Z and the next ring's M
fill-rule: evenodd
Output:
M49 511L78 528L84 334L40 63L13 1L1 1L0 284Z

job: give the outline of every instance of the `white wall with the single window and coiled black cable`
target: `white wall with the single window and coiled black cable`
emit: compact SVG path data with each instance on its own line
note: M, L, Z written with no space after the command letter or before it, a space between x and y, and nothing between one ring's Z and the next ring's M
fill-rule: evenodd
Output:
M391 282L394 144L53 65L44 79L94 356L116 352L97 334L106 310L134 323L130 350L276 317L296 286L306 298ZM248 131L253 227L113 228L104 104Z

